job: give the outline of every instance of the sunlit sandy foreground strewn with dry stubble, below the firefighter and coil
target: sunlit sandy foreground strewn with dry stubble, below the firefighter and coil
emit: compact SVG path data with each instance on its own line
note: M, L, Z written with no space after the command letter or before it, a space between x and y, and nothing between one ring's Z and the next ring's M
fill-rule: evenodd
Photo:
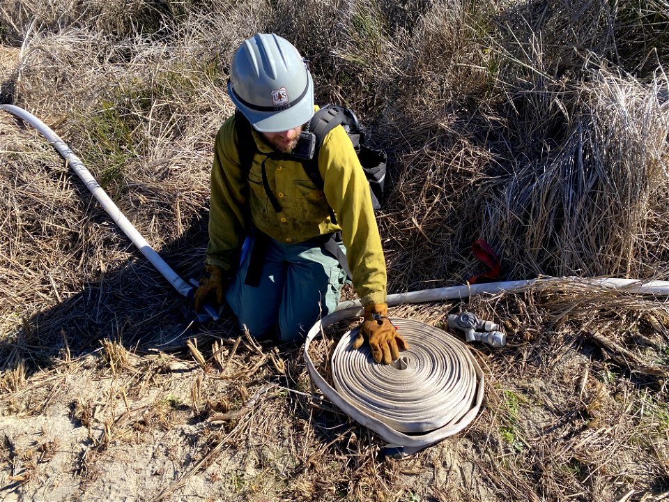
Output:
M666 425L630 413L650 406L648 388L635 395L611 367L603 381L592 354L565 344L532 356L514 347L521 335L502 351L471 347L486 378L481 413L404 459L306 397L295 347L221 338L217 362L204 338L197 351L141 355L105 342L30 375L19 365L0 394L0 499L539 501L576 495L576 478L592 489L578 500L666 500ZM656 459L640 434L656 438ZM550 471L542 483L527 469ZM569 483L553 486L560 476Z

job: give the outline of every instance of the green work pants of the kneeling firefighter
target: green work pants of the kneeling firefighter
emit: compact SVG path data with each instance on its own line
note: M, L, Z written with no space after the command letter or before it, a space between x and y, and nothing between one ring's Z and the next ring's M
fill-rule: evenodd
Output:
M346 273L319 245L268 238L257 286L245 284L251 256L247 252L243 257L226 300L240 327L246 326L254 337L272 336L278 328L280 340L303 340L318 318L339 303Z

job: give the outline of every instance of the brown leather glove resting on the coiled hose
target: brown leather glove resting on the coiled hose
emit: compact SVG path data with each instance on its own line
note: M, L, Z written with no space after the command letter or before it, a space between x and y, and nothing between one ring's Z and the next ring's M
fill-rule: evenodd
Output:
M399 351L409 344L397 333L397 328L388 319L387 303L370 303L364 307L364 321L353 349L360 349L364 339L369 340L371 355L377 363L390 364L399 358Z

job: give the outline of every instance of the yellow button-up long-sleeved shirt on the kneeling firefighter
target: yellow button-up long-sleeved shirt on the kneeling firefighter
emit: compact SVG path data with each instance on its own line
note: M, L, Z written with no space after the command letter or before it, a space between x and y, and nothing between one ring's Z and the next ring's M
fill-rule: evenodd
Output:
M276 160L263 155L272 148L256 130L259 153L244 179L238 154L235 116L224 121L216 135L211 173L208 264L234 271L250 222L282 243L301 243L341 230L353 286L363 305L384 303L386 270L383 248L369 184L344 128L328 133L318 155L323 190L309 179L298 160ZM263 186L262 165L268 186L281 206L275 211ZM337 215L330 219L328 204Z

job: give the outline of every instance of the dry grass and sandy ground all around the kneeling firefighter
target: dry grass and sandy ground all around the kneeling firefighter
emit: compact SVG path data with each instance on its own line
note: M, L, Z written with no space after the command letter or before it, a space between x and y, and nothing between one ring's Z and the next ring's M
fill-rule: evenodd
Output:
M0 100L68 142L185 279L201 271L230 56L293 40L318 102L390 154L391 293L669 279L669 9L659 0L144 0L0 6ZM665 297L575 278L401 305L470 310L486 401L407 459L312 388L300 348L190 307L31 128L0 112L0 494L6 500L669 500ZM187 326L190 326L187 328ZM187 328L187 329L186 329ZM323 372L344 326L315 346ZM45 495L47 494L47 495Z

